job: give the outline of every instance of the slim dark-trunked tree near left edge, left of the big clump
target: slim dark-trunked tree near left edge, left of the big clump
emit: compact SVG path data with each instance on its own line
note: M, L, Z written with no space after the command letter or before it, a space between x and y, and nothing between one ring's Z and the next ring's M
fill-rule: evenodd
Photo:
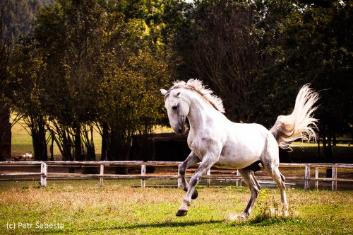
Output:
M42 110L40 101L41 88L38 86L44 78L46 64L37 54L37 50L26 40L16 43L18 57L11 61L11 79L17 81L16 90L11 98L16 106L13 112L20 113L21 118L30 128L34 159L47 161L47 116Z

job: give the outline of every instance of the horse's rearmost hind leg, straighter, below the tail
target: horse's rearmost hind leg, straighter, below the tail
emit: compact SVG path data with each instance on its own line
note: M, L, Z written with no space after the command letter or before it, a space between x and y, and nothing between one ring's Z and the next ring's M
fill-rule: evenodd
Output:
M286 196L285 176L280 173L277 164L275 166L273 166L273 164L271 164L270 166L264 165L264 168L266 169L266 171L268 171L273 180L275 180L275 183L277 183L278 188L280 188L283 215L287 217L289 207Z

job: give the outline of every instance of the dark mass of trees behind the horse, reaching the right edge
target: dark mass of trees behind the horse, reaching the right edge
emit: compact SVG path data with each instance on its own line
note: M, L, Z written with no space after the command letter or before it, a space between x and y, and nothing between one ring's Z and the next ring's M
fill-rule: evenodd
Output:
M321 91L325 155L336 137L352 135L352 1L201 0L183 9L189 21L173 41L179 77L208 83L229 119L271 127L309 83Z

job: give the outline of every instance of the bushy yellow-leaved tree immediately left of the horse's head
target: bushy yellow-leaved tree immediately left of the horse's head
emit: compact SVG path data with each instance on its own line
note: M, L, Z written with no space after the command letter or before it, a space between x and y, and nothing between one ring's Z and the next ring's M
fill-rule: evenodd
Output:
M158 88L167 83L167 64L150 52L140 51L119 64L111 64L119 59L107 59L108 56L116 55L104 55L101 63L104 76L98 120L102 141L107 143L107 149L102 147L102 151L107 151L109 160L127 160L132 135L150 133L163 115Z

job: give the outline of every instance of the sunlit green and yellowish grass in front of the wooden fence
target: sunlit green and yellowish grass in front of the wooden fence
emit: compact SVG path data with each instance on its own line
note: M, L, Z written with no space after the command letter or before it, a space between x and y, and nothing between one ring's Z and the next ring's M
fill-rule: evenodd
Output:
M247 188L198 191L189 214L175 217L184 197L180 189L134 188L121 180L106 180L103 188L97 180L51 180L47 188L34 181L1 182L0 234L353 234L350 191L289 189L285 218L276 210L279 191L263 189L251 217L240 221L232 218L244 210ZM8 223L16 229L8 230Z

